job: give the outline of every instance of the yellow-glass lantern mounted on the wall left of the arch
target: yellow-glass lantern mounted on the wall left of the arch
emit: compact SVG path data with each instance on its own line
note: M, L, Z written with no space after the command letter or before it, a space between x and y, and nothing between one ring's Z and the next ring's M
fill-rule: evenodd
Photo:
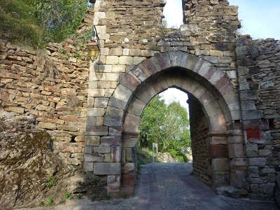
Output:
M99 36L94 25L92 27L92 36L90 36L90 41L88 42L87 49L91 61L94 62L100 52Z

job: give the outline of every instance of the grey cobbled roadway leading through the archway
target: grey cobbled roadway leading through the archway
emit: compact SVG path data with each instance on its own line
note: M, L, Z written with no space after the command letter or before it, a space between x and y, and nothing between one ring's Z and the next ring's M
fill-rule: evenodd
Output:
M154 163L141 167L136 196L127 200L90 202L73 200L64 205L36 209L192 209L192 210L274 210L273 202L233 200L216 195L211 188L190 176L192 167L185 163Z

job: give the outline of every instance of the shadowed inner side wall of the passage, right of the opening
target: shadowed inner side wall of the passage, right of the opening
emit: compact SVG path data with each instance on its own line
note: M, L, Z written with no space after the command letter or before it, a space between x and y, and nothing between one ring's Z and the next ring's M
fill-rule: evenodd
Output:
M193 172L197 179L212 186L209 128L207 117L197 99L188 95L190 138L192 141Z

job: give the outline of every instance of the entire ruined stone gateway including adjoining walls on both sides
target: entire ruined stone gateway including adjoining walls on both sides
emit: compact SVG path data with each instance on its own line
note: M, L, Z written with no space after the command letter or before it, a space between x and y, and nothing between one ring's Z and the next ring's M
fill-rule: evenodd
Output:
M240 36L238 7L227 0L182 5L184 24L169 29L163 0L97 0L80 31L94 23L99 57L89 65L73 41L50 43L61 76L43 82L36 55L1 41L0 105L35 116L66 165L100 176L118 197L134 193L142 111L176 87L189 97L197 179L224 195L272 200L280 173L280 41Z

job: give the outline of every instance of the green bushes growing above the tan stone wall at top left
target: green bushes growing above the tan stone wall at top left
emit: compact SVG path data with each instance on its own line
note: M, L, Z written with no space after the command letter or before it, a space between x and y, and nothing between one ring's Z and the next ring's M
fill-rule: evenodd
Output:
M0 36L43 48L74 34L89 6L87 0L2 0Z

